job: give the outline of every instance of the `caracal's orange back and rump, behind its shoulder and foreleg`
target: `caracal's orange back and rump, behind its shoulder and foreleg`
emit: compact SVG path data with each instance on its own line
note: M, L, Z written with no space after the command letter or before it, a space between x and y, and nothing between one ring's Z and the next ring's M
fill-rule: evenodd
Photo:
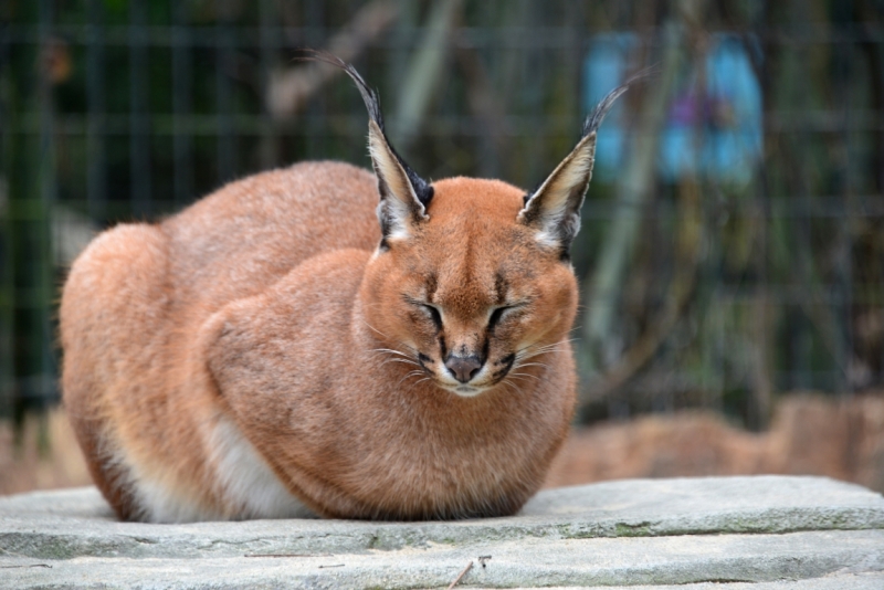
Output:
M366 170L298 164L231 182L160 225L118 225L75 261L60 312L64 401L93 478L122 517L192 520L240 509L176 499L210 487L210 450L182 450L203 447L196 426L217 417L201 413L211 407L203 391L180 394L191 377L171 359L193 354L193 336L211 314L304 260L376 247L376 206L377 180ZM168 489L148 483L170 473ZM155 496L152 512L133 497L137 482ZM276 493L277 513L301 512Z

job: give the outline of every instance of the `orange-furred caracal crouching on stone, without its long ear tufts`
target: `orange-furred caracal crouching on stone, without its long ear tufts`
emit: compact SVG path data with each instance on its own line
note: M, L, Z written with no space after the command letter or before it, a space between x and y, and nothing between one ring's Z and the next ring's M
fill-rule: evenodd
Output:
M120 518L495 516L543 483L576 381L550 226L592 154L570 197L452 178L418 203L371 133L381 229L376 177L301 164L74 263L64 401Z

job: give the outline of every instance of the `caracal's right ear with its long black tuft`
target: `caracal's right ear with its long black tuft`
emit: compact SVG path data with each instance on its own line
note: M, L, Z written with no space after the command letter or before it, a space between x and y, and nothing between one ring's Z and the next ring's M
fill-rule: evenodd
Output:
M537 230L539 243L558 249L562 260L568 260L569 249L580 230L580 208L592 178L596 161L596 133L614 101L630 85L644 77L633 76L622 86L608 93L583 122L580 140L539 188L525 196L525 207L516 221Z

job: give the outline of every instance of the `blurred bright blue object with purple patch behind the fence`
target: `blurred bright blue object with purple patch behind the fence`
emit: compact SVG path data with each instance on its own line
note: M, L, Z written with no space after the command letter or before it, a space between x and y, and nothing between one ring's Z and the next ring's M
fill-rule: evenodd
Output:
M761 157L761 86L739 38L717 33L709 40L703 92L699 72L680 73L660 140L659 172L672 182L686 175L703 175L746 183ZM587 110L625 80L638 43L634 33L596 36L583 66ZM653 84L653 78L649 83ZM628 123L618 105L599 130L596 170L602 181L613 180L623 168Z

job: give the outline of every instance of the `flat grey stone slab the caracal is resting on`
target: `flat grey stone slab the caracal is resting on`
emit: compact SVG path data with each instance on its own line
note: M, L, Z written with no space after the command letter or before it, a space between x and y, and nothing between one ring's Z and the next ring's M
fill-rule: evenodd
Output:
M0 588L446 588L471 560L463 587L881 590L884 498L819 477L633 480L512 518L145 525L94 488L0 497Z

